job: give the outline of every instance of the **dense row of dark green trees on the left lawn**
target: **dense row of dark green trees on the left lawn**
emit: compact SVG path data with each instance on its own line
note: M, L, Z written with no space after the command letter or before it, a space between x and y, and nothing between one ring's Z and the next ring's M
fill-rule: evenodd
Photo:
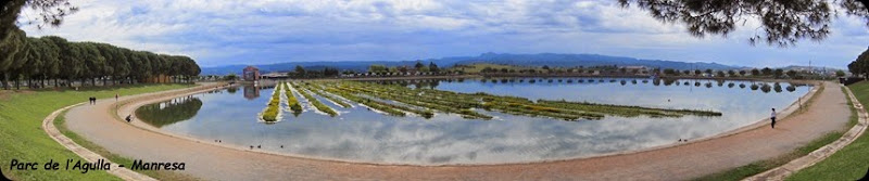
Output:
M72 42L64 38L47 36L41 38L26 37L16 29L7 41L0 42L0 81L3 89L10 89L9 81L14 81L20 89L22 80L32 88L50 85L72 86L74 80L91 86L97 80L102 85L111 80L113 83L135 82L154 76L168 76L174 81L190 80L201 72L199 65L180 55L155 54L147 51L135 51L108 43Z

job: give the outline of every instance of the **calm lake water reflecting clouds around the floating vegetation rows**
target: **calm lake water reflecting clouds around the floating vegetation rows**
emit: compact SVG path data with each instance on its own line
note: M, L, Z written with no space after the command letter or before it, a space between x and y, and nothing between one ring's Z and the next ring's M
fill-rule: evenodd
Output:
M750 81L723 81L719 86L715 80L551 79L552 82L545 78L522 78L378 83L532 100L711 109L722 112L723 116L607 116L602 120L563 121L480 111L496 118L464 119L438 113L425 119L386 116L355 104L342 108L317 96L341 115L318 114L303 103L305 112L301 115L293 116L284 107L281 121L266 125L257 122L256 117L274 88L238 87L143 106L139 117L175 134L223 140L225 144L244 147L262 145L262 150L289 155L381 164L502 164L587 157L710 137L766 118L771 107L783 109L810 89L799 86L789 91L786 87L791 85L785 82L781 83L780 92L774 89L765 92L752 90ZM740 88L741 83L745 87Z

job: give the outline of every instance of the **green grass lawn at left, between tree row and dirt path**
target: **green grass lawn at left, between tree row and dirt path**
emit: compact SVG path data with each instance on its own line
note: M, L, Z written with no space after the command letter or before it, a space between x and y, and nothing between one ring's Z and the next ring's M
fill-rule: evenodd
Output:
M42 119L67 105L100 99L187 88L191 85L137 85L97 87L74 90L0 91L0 161L2 172L13 180L119 180L105 171L80 173L74 170L45 170L41 165L53 159L81 159L54 142L42 130ZM37 170L10 170L12 159L39 163ZM84 160L84 159L81 159Z

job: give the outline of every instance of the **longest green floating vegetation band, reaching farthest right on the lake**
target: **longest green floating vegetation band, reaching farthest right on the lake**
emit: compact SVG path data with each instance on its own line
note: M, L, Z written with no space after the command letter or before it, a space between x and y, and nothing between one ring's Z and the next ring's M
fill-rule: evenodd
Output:
M355 81L324 83L328 91L341 96L367 95L382 100L393 100L403 104L425 107L439 112L459 114L465 118L491 119L492 116L475 112L475 108L496 111L505 114L543 116L564 120L601 119L605 115L621 117L681 117L721 116L721 113L695 109L651 108L641 106L595 104L585 102L549 101L537 102L517 96L492 95L483 92L458 93L432 89L410 89L392 85L377 85ZM344 95L348 94L348 95ZM413 111L413 109L412 109Z

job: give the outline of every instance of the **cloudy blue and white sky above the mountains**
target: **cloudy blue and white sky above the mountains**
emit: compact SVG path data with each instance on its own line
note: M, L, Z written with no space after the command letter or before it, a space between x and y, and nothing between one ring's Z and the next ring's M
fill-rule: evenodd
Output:
M495 53L594 53L726 65L845 68L869 27L840 15L822 41L751 46L759 23L727 37L690 36L614 0L71 0L60 27L28 36L181 54L201 66L410 61ZM21 18L35 17L24 11Z

